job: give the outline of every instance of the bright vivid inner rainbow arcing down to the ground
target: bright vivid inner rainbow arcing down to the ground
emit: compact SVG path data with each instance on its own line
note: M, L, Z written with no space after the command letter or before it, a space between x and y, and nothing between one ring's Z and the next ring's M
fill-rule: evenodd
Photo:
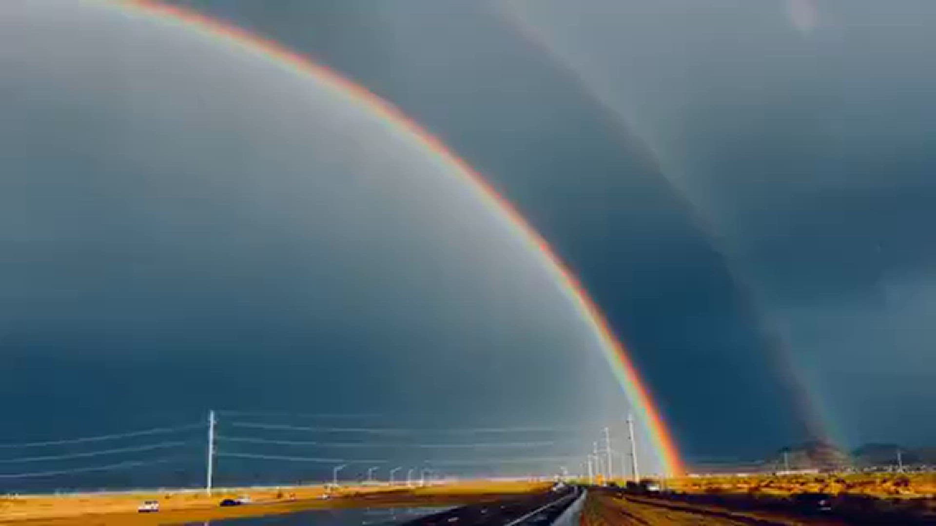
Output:
M516 207L498 194L490 183L467 162L452 153L441 140L432 136L401 110L366 88L345 79L326 66L316 64L300 53L288 50L277 42L259 37L197 11L185 7L168 6L155 0L104 0L104 3L212 37L238 51L260 55L299 75L313 77L348 103L371 112L396 133L416 139L418 144L427 153L431 153L437 162L458 174L492 213L504 217L515 233L545 259L548 270L575 305L578 313L591 326L611 370L634 405L637 417L650 431L654 451L665 475L678 476L684 473L679 450L672 434L666 428L659 409L653 403L649 389L640 380L640 375L628 357L623 343L614 335L604 314L579 284L575 274L556 255L543 236L520 215Z

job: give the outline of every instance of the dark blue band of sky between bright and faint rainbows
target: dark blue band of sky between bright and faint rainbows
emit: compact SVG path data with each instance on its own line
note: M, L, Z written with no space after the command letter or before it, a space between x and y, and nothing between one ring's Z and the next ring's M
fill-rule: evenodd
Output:
M578 271L633 347L688 449L763 447L739 444L739 425L778 444L803 436L782 371L722 256L651 153L498 9L435 2L321 7L326 19L379 27L354 41L317 30L313 4L297 8L291 22L252 2L186 4L362 81L485 173ZM745 416L752 404L776 417ZM699 410L713 406L725 409L714 416Z

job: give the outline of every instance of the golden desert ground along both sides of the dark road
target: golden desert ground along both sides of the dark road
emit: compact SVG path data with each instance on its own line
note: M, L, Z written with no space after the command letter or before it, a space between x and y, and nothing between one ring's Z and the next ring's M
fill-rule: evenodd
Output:
M425 488L358 486L329 490L325 486L304 486L216 489L211 496L204 491L192 490L7 496L0 497L0 523L15 526L144 526L259 517L311 509L454 506L540 492L548 486L543 482L481 480ZM582 524L732 525L751 524L758 520L764 524L780 525L842 523L832 517L804 519L791 517L788 511L770 511L777 508L777 503L803 492L828 493L846 505L868 505L872 502L878 511L911 506L914 514L936 514L936 474L687 476L665 480L665 489L675 491L675 496L657 498L595 490L589 495ZM323 498L327 492L329 498ZM242 495L248 495L253 502L232 507L218 505L222 499ZM138 513L137 506L146 500L158 500L161 510L154 514Z

